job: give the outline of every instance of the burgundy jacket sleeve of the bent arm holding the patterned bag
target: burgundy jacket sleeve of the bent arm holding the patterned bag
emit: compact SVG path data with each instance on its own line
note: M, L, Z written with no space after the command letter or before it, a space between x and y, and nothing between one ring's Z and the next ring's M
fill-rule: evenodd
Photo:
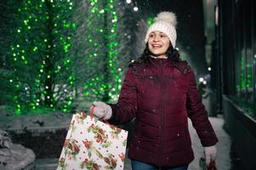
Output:
M133 69L130 67L122 82L117 104L110 104L112 116L108 122L124 124L131 121L137 111L137 88L134 82Z

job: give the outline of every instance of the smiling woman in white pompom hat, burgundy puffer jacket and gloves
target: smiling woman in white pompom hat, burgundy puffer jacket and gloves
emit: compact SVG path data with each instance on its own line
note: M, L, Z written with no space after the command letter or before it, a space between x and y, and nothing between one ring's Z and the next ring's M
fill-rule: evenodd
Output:
M218 142L196 89L194 72L180 61L176 16L162 12L145 36L142 56L129 65L117 104L95 101L94 115L114 124L136 118L128 156L134 170L185 170L194 159L188 119L201 139L207 163Z

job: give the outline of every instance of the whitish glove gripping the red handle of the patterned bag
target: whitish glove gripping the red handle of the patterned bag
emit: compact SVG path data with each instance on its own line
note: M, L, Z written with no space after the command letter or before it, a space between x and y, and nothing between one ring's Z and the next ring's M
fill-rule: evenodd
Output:
M101 101L94 101L93 105L90 107L90 111L92 111L93 107L94 116L104 120L108 120L111 118L112 109L110 105L106 105L104 102Z

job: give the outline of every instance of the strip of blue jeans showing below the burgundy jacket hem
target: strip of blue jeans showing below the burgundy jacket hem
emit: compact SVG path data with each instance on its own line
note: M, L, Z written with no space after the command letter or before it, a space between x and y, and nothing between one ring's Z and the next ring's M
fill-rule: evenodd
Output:
M132 160L132 167L133 170L187 170L188 165L182 166L182 167L156 167L154 165L148 164L148 163L143 163L141 161L135 161Z

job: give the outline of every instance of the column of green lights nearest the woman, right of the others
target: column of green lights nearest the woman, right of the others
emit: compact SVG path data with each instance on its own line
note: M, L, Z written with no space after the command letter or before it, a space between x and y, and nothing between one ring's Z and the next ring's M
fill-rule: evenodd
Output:
M96 31L99 33L99 36L101 38L101 42L104 40L104 36L107 38L107 44L103 44L107 46L106 52L107 53L107 63L108 63L108 72L110 75L109 81L105 80L105 77L103 75L95 75L91 79L89 79L83 86L84 88L84 95L86 97L93 97L93 99L103 99L103 96L105 93L110 97L110 99L116 100L117 95L119 94L119 91L121 89L121 69L117 68L116 60L117 60L117 12L115 11L115 5L116 1L109 0L105 7L101 7L102 3L98 2L97 0L90 0L89 1L91 8L91 14L88 14L88 30L89 31L95 31L94 30L94 23L92 20L94 20L94 17L102 18L104 14L107 14L108 16L108 27L110 28L109 31L100 28L96 29ZM101 7L101 9L100 9ZM98 20L98 19L96 19ZM95 33L95 32L94 32ZM88 42L91 45L98 46L100 42L94 42L93 38L94 36L88 35L87 39ZM89 45L90 46L90 45ZM88 54L88 58L96 58L98 54L95 51L92 51L91 54ZM96 59L94 59L94 62ZM87 62L86 66L94 65L92 63Z

